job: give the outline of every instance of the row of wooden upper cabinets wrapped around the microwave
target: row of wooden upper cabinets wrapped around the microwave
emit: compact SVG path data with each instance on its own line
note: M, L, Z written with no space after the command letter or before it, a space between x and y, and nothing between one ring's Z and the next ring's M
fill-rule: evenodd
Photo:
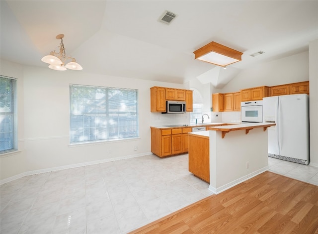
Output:
M173 89L165 87L150 88L151 112L166 113L167 101L185 102L186 112L192 112L192 90Z

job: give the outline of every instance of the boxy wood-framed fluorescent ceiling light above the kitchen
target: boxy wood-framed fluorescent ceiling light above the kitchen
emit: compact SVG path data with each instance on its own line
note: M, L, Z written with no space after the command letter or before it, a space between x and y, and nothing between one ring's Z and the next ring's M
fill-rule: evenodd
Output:
M200 49L197 49L193 53L195 55L194 59L212 63L221 67L226 67L229 64L239 62L242 60L241 56L243 54L214 41Z

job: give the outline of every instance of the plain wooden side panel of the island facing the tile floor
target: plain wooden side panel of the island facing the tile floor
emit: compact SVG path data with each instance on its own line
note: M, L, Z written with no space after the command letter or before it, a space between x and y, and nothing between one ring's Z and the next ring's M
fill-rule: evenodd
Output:
M189 171L210 183L209 137L189 134Z

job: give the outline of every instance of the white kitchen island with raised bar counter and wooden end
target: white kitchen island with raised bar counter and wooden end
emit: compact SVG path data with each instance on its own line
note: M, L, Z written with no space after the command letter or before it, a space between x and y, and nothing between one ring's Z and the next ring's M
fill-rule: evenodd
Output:
M218 194L268 170L267 127L273 125L246 123L189 132L190 172L209 182L209 189ZM193 162L201 168L193 168Z

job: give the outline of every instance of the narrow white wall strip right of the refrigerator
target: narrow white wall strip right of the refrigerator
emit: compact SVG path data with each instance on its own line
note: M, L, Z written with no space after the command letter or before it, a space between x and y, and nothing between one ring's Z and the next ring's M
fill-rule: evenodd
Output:
M318 40L309 43L310 159L318 167Z

